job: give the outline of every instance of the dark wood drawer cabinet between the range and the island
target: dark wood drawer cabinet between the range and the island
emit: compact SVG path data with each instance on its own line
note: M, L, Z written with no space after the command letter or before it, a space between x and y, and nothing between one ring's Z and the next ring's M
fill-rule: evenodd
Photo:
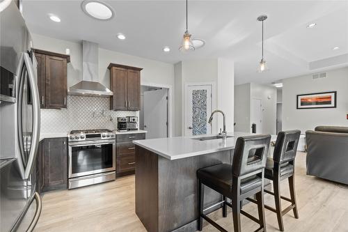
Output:
M116 134L116 177L134 174L135 145L133 140L145 139L145 133Z

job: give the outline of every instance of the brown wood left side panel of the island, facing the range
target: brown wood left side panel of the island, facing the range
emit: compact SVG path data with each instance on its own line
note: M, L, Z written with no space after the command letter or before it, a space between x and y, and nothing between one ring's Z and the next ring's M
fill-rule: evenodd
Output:
M135 146L135 206L147 231L158 231L158 155Z

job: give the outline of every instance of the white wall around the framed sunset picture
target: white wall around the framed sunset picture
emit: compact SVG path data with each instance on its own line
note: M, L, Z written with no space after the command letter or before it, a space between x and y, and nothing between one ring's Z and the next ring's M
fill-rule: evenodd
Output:
M296 109L296 95L337 91L337 108ZM299 129L302 133L317 125L348 126L348 68L327 71L327 77L312 75L283 79L283 130Z

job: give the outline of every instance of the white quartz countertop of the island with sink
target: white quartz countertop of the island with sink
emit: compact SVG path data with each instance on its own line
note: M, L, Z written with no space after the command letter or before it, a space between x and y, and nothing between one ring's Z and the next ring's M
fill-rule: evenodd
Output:
M133 141L134 144L145 149L157 153L168 160L178 160L197 155L215 153L222 150L230 150L235 148L235 142L238 137L255 135L246 132L230 132L225 141L223 139L209 139L205 141L196 140L193 138L210 137L216 134L204 134L193 137L171 137L161 139L145 139ZM271 141L276 141L276 135L272 135Z

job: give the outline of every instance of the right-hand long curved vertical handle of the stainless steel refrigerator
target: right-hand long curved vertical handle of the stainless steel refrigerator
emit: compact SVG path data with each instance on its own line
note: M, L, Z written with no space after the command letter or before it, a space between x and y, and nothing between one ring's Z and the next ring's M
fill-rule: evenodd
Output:
M24 178L29 178L31 169L33 168L36 153L38 151L40 139L40 98L38 85L36 84L35 72L29 54L24 52L24 63L26 72L28 72L29 86L31 88L31 98L33 100L33 137L31 138L31 149L29 152L28 161L24 171Z

